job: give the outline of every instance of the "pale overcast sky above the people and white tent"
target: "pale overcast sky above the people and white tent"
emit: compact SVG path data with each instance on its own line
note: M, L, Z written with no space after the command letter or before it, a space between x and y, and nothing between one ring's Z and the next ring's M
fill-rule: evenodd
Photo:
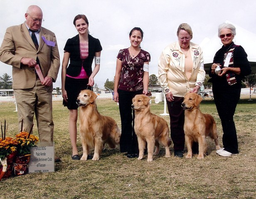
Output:
M177 41L177 27L181 23L190 24L192 42L196 44L201 44L205 37L212 38L218 25L226 20L256 33L255 0L1 0L0 5L1 43L6 28L23 23L27 7L38 5L44 15L42 27L56 34L61 63L66 40L78 34L74 17L86 15L90 34L103 47L101 68L94 79L99 87L103 87L107 78L113 80L116 56L120 49L130 46L128 34L133 27L144 32L141 46L151 55L150 74L156 75L158 57L165 46ZM246 39L248 43L256 40ZM12 75L11 68L1 62L0 76ZM54 87L61 87L61 67Z

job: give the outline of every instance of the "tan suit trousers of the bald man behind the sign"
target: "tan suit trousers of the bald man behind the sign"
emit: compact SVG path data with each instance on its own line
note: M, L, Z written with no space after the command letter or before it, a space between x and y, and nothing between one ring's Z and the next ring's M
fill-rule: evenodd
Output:
M21 130L23 119L23 131L30 131L34 121L37 120L37 129L41 143L53 142L52 121L52 92L47 92L37 78L34 87L29 89L14 89L14 95L18 111L18 131Z

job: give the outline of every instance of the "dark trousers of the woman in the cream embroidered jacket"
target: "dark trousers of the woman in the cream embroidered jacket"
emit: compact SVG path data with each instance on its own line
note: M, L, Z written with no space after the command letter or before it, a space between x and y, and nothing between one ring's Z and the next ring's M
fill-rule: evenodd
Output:
M168 112L170 115L170 130L174 150L184 150L185 133L184 122L185 114L181 107L184 97L175 97L173 102L167 102ZM192 143L193 152L198 153L198 143Z

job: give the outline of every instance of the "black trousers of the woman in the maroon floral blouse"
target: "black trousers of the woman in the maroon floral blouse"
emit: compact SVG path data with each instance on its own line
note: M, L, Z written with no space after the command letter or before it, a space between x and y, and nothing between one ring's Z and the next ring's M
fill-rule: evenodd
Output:
M135 95L142 94L143 90L129 92L118 90L119 111L121 116L120 152L128 154L138 153L138 138L134 131L134 111L131 108Z

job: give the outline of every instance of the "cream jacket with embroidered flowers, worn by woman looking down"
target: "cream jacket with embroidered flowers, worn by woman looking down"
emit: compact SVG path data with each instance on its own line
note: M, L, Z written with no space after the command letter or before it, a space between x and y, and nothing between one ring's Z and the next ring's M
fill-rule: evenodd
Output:
M204 58L199 45L190 42L190 53L193 61L192 73L188 79L185 74L185 54L180 49L179 42L165 47L158 60L158 78L165 94L172 92L173 96L184 97L204 82Z

